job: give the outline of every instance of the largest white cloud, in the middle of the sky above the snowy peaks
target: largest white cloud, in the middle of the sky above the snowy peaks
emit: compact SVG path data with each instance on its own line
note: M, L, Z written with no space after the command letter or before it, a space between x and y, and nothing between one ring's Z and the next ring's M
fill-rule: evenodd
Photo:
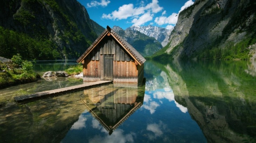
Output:
M152 0L151 3L144 6L144 1L140 3L139 7L134 7L132 3L122 5L118 10L114 10L111 14L102 14L102 18L111 20L122 20L127 18L133 18L133 25L143 25L144 23L153 20L152 13L160 12L163 7L160 7L158 0Z

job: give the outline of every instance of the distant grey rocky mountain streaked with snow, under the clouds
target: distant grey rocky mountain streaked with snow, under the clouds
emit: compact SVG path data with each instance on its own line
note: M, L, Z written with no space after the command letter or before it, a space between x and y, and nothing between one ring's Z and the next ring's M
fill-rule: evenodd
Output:
M168 30L162 27L156 26L132 26L127 28L129 30L140 31L141 33L149 36L154 37L158 42L162 44L162 46L166 46L168 44L170 33L173 29Z

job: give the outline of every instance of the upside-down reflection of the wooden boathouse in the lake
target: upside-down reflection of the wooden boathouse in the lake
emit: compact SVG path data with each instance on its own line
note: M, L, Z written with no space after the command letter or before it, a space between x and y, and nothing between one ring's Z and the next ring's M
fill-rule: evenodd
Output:
M134 84L110 84L84 90L86 99L82 102L111 135L141 107L144 92L145 87Z

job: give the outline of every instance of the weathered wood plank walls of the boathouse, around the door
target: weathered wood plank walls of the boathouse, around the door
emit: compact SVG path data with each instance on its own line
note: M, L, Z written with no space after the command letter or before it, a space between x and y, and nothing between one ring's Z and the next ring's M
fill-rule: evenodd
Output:
M105 55L113 55L113 82L138 83L143 80L144 66L136 66L132 57L123 47L112 36L108 36L103 38L85 58L84 81L104 80L103 76L106 73L104 74L105 65L102 60Z

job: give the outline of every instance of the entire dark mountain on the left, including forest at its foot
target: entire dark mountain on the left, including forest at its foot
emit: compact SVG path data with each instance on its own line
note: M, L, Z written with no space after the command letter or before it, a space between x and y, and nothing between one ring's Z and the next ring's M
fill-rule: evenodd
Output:
M105 28L76 0L0 0L0 56L76 59Z

